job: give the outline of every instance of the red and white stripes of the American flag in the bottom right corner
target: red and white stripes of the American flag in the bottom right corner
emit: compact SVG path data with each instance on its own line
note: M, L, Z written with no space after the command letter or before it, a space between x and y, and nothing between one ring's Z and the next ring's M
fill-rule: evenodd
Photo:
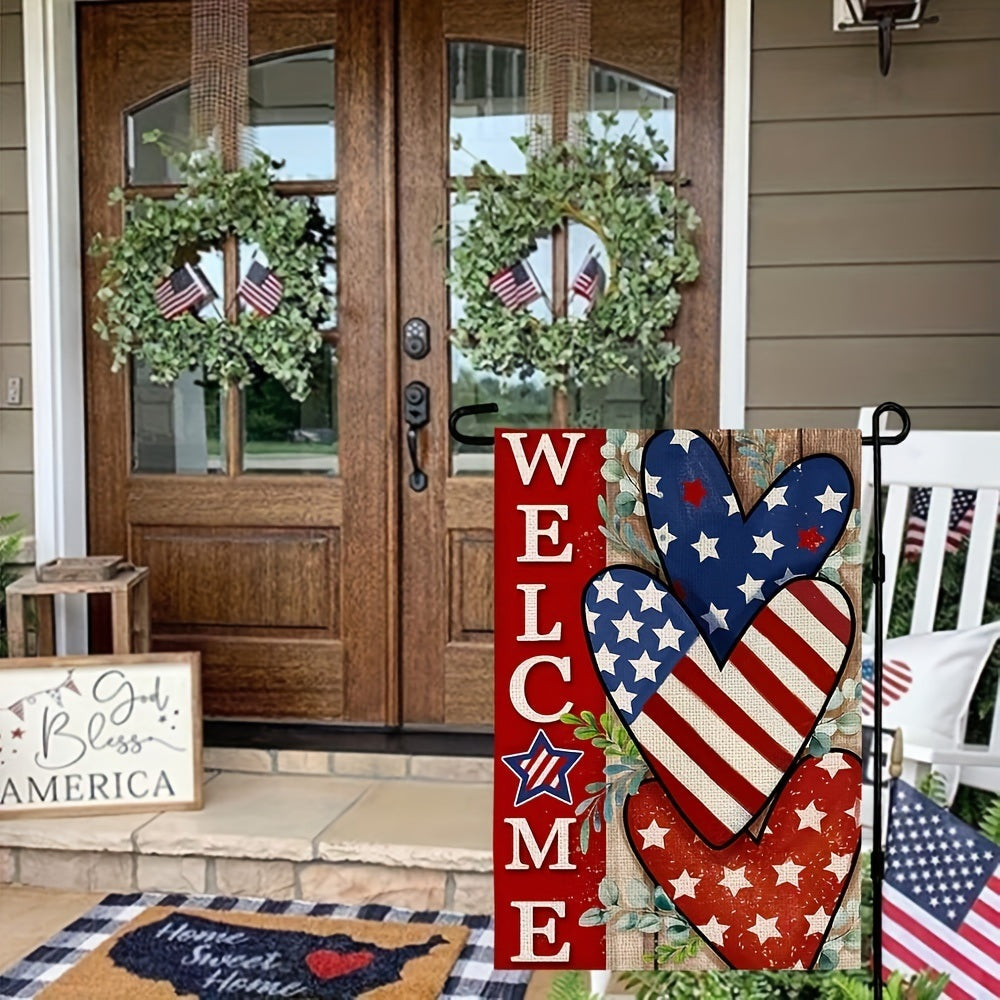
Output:
M1000 997L1000 877L993 873L965 919L953 931L894 886L882 893L882 947L886 969L906 974L947 972L951 1000Z

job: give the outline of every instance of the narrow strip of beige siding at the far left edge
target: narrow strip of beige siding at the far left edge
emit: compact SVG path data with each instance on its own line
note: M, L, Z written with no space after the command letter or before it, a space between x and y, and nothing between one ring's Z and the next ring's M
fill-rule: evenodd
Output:
M0 514L32 530L31 353L20 4L0 0ZM7 380L22 381L21 405Z

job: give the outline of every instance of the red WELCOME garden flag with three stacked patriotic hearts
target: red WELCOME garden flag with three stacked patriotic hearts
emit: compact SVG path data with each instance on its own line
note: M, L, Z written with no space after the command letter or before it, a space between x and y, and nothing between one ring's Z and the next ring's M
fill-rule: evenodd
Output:
M860 449L497 432L498 968L859 964Z

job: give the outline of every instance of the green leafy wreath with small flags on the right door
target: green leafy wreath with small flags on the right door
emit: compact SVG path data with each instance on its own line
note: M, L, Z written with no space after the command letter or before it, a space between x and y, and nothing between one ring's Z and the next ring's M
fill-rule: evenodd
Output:
M529 156L523 174L479 161L472 182L458 182L458 201L473 201L476 213L457 234L448 275L464 300L453 340L476 368L501 376L538 372L546 385L567 390L606 385L640 368L665 378L678 363L680 350L666 331L681 306L680 286L698 276L692 234L700 220L662 175L667 146L649 113L640 117L641 137L616 136L615 116L602 114L599 133L583 124L579 142ZM529 136L514 142L528 153ZM462 148L460 138L454 146ZM592 230L603 246L604 294L584 316L540 319L508 308L490 280L567 221Z

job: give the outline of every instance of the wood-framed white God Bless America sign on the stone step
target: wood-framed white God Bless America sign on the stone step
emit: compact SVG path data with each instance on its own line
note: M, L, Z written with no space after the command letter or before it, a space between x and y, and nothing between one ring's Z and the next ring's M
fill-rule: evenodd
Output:
M0 660L0 818L200 809L198 653Z

